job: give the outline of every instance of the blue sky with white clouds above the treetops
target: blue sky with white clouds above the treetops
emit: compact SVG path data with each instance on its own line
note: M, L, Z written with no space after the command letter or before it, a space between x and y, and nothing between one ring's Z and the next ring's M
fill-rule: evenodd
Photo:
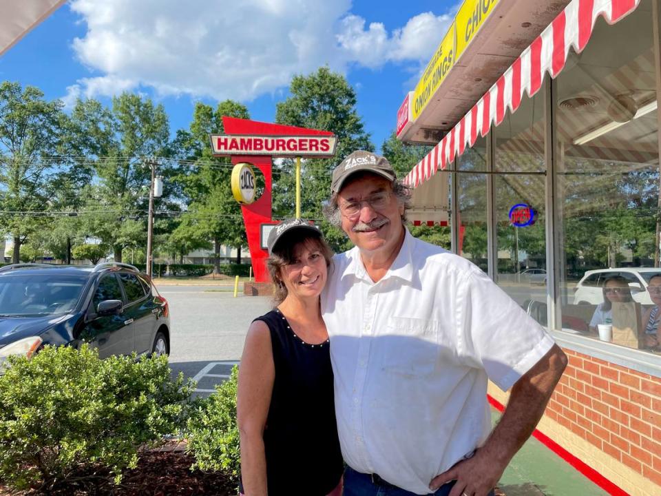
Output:
M322 65L357 92L381 149L459 0L71 0L0 56L0 81L46 99L109 105L123 91L162 103L171 134L193 106L240 101L273 122L296 74Z

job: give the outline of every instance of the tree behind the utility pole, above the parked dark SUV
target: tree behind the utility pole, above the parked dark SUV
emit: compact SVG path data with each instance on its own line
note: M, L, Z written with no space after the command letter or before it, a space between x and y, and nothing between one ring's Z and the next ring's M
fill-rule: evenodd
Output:
M81 229L112 248L114 260L122 260L126 247L145 245L150 157L165 157L169 148L169 123L162 105L136 94L112 99L112 110L94 100L78 101L72 114L76 143L90 156L96 183L82 198L85 214ZM159 174L170 174L161 164ZM165 186L160 205L167 206Z

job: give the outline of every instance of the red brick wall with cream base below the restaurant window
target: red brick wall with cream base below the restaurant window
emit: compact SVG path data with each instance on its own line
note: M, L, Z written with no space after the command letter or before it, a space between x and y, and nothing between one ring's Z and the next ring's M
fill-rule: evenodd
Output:
M661 378L565 349L538 430L634 496L661 494ZM508 395L493 384L501 404Z

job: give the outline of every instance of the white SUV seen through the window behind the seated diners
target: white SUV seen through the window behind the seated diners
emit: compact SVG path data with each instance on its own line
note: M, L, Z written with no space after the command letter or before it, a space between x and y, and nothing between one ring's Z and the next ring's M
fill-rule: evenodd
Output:
M587 271L576 285L574 304L600 304L604 301L604 281L613 276L622 276L629 282L633 300L640 304L653 304L647 292L652 276L661 276L661 269L654 267L621 267Z

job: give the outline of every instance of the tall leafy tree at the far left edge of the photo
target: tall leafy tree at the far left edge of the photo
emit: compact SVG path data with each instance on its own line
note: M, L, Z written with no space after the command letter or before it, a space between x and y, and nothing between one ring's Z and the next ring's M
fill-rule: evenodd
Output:
M21 244L48 222L62 105L36 87L0 83L0 230L13 238L14 263Z

